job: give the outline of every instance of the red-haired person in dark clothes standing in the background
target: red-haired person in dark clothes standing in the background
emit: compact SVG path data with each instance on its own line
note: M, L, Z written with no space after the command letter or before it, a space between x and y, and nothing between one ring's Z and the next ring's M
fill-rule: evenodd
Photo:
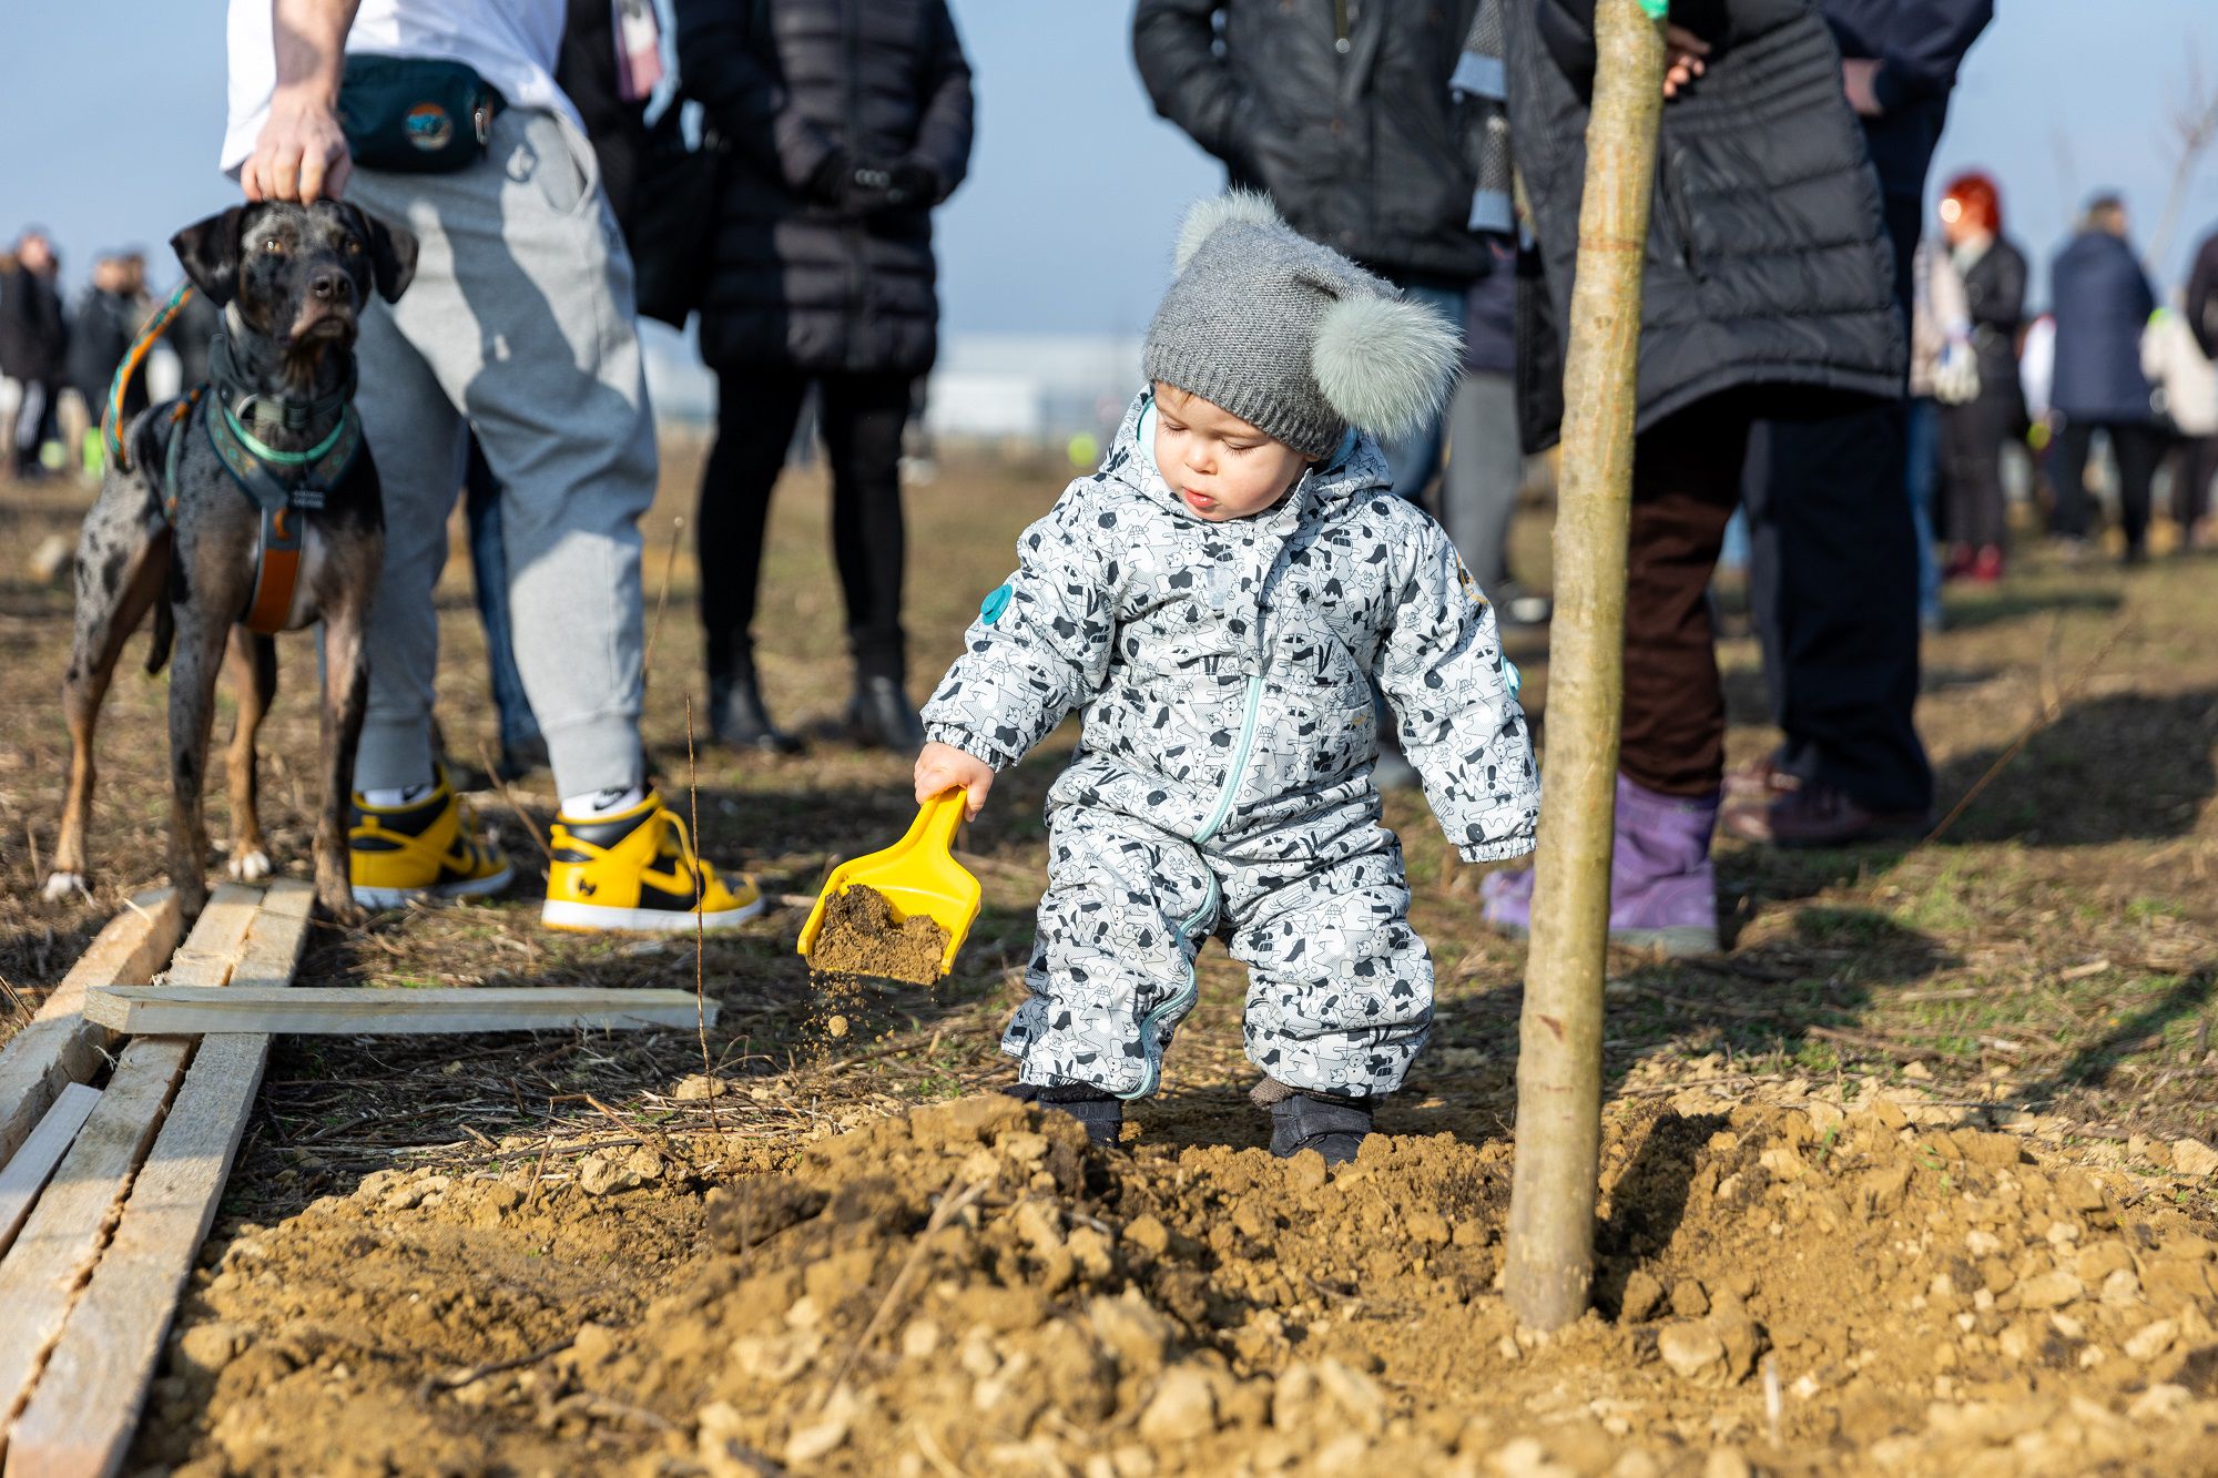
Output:
M1941 526L1952 579L2003 575L2003 442L2025 424L2018 386L2018 324L2025 317L2025 253L2003 237L2003 195L1985 173L1956 175L1941 191L1941 235L1963 282L1972 362L1970 399L1941 404Z

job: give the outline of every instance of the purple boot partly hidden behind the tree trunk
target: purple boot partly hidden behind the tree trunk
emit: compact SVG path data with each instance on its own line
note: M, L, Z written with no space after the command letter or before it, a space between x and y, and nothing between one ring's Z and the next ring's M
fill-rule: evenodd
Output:
M1683 801L1617 777L1610 943L1664 954L1717 954L1712 830L1717 794ZM1533 870L1488 872L1479 881L1479 917L1524 939L1533 928Z

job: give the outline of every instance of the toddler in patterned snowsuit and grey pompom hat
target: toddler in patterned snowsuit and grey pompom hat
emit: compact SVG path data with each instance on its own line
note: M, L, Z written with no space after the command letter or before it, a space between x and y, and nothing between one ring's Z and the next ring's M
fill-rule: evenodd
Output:
M1402 848L1380 826L1371 684L1466 861L1533 848L1539 781L1493 610L1377 437L1437 411L1457 340L1260 195L1187 215L1149 388L925 706L920 799L969 812L1071 710L1047 799L1020 1092L1113 1143L1193 1008L1193 956L1249 965L1271 1150L1355 1154L1433 1019Z

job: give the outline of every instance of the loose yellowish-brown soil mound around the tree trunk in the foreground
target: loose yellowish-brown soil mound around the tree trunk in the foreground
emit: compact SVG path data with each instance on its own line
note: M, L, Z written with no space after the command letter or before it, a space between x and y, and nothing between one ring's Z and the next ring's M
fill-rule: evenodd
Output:
M705 1247L643 1309L466 1258L439 1305L397 1303L430 1269L388 1265L357 1196L251 1238L344 1309L262 1274L202 1294L244 1354L164 1456L342 1471L355 1431L404 1469L566 1449L554 1467L639 1478L2207 1467L2218 1243L2129 1212L2123 1181L1885 1101L1650 1101L1606 1138L1599 1307L1539 1338L1495 1287L1508 1170L1508 1145L1451 1136L1337 1170L1105 1154L1060 1114L963 1099L708 1192ZM674 1203L572 1198L541 1214L657 1225ZM308 1274L311 1247L348 1263ZM508 1358L572 1343L424 1387L439 1320L495 1312Z

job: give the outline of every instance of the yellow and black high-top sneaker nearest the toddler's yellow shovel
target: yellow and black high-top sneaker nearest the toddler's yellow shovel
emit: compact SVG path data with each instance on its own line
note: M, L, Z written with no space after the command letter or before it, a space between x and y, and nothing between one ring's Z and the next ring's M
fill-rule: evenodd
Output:
M705 865L663 797L648 792L639 806L572 821L554 817L548 903L541 923L557 930L721 930L763 912L754 879L723 879Z

